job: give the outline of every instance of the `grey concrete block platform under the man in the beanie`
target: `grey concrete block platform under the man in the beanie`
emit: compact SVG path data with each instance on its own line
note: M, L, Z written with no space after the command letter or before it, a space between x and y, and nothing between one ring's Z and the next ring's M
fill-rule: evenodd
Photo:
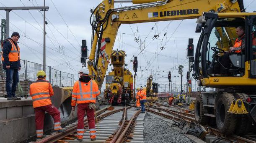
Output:
M1 143L20 143L36 135L31 98L10 101L0 98Z

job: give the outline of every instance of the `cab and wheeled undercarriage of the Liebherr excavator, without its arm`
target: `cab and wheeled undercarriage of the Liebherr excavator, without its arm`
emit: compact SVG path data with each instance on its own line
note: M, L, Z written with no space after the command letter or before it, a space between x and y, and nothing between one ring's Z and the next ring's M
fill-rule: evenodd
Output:
M199 86L217 88L202 92L195 101L197 123L216 120L225 134L248 133L256 123L256 13L204 13L199 18L201 31L194 61L194 77ZM228 75L216 74L219 59L235 44L235 28L245 27L245 46L240 53L229 55ZM222 65L221 65L222 66ZM239 103L238 103L239 102ZM240 128L241 125L246 128Z

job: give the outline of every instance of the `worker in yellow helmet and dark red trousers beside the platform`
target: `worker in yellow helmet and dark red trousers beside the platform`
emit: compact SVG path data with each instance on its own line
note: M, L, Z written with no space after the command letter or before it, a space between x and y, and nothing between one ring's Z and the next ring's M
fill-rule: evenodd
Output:
M52 85L46 79L46 74L40 70L37 74L37 80L30 85L30 96L32 97L33 107L36 119L36 137L44 138L44 113L52 115L54 119L54 131L64 132L60 126L59 110L52 105L50 97L54 95Z

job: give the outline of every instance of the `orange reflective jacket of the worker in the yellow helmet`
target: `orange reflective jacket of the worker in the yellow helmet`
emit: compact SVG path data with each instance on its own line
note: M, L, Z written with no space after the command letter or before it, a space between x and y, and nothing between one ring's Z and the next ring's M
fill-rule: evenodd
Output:
M52 85L49 81L38 79L30 85L30 96L32 97L33 107L41 107L52 104L50 97L54 95Z

